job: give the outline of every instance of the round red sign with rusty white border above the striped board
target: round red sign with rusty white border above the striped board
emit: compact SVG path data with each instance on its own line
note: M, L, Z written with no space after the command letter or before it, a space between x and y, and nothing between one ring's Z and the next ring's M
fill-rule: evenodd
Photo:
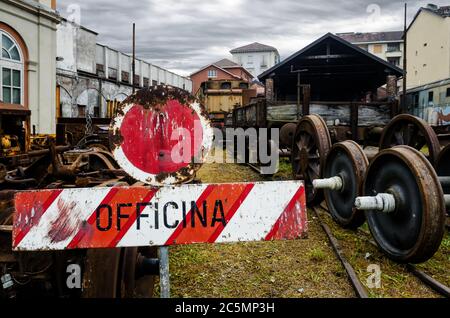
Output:
M191 180L211 149L208 115L188 92L152 86L128 97L111 120L114 158L133 178L161 186Z

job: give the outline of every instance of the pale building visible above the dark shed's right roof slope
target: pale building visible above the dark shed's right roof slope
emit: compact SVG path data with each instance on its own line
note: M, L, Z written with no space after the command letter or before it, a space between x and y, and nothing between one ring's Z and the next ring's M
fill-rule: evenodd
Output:
M397 67L403 67L403 31L348 32L336 35Z

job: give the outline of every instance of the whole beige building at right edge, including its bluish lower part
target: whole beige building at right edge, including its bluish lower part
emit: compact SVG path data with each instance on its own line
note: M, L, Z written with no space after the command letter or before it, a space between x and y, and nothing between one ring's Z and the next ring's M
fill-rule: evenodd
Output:
M450 125L450 6L420 8L407 41L409 112L431 125Z

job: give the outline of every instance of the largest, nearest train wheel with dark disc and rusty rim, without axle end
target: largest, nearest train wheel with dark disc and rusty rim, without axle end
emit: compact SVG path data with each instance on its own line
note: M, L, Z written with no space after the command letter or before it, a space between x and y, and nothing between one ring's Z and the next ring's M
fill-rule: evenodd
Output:
M444 235L445 203L430 162L416 149L397 146L381 151L371 162L364 195L390 193L391 213L366 211L370 231L391 259L420 263L431 258Z

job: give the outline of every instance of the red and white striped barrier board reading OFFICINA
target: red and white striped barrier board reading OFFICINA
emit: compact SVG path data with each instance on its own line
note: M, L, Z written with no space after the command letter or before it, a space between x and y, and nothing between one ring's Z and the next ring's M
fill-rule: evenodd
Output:
M36 190L16 194L13 249L166 246L296 239L301 181Z

